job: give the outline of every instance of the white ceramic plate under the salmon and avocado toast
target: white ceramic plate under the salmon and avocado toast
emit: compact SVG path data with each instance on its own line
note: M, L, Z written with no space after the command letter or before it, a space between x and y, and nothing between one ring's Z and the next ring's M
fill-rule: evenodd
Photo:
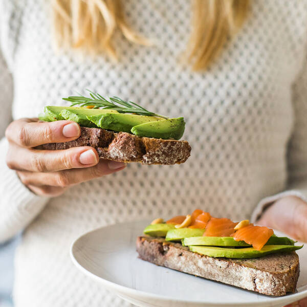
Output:
M76 267L103 287L138 306L283 306L307 297L307 247L298 251L297 292L271 297L227 284L155 266L138 258L135 242L146 222L99 228L79 237L71 247Z

